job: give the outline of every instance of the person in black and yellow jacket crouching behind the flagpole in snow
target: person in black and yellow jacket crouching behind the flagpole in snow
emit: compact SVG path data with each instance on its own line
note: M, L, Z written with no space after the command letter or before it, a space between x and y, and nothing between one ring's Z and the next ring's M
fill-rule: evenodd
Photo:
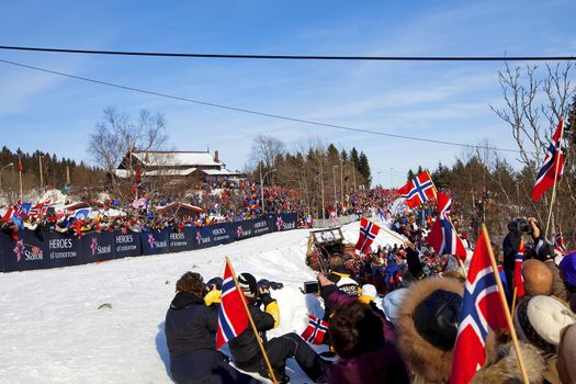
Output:
M324 376L323 360L298 335L292 332L268 340L266 332L278 327L280 312L276 301L270 296L267 286L258 287L256 278L250 273L238 275L238 283L248 298L248 309L252 316L259 337L262 340L274 375L280 383L287 383L285 373L286 359L293 358L300 368L313 381L321 381ZM264 306L264 310L260 307ZM266 360L256 340L251 327L228 342L236 365L245 371L258 372L264 377L271 377Z

